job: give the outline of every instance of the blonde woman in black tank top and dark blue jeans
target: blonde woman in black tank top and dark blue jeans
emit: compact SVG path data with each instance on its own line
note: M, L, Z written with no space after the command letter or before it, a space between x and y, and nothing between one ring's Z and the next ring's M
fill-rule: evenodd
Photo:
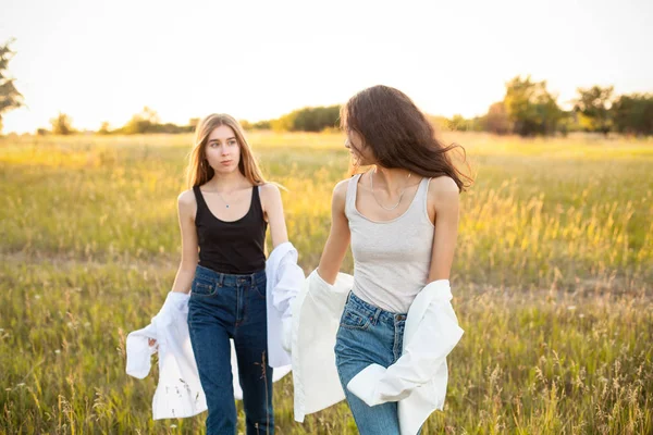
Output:
M205 117L178 197L182 261L173 291L188 293L188 328L208 406L207 434L236 433L230 339L234 340L247 434L273 434L267 350L266 231L287 241L279 188L266 183L242 126Z

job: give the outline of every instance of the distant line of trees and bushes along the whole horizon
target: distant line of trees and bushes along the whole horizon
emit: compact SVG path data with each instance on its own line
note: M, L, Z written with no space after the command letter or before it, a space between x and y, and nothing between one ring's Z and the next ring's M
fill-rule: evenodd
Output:
M8 41L0 46L0 133L2 115L24 105L23 96L9 77L8 64L13 55ZM516 76L505 84L502 101L494 102L482 116L451 119L430 116L441 128L449 130L491 132L498 135L520 136L566 135L569 132L611 132L649 136L653 135L653 95L615 95L614 87L592 86L578 88L571 101L572 108L564 110L557 96L546 88L546 80L537 82L530 76ZM246 129L273 129L276 132L322 132L337 128L340 105L312 107L294 110L278 119L250 123L242 121ZM158 113L145 107L123 126L111 128L102 123L95 132L101 135L189 133L199 119L190 119L186 125L161 122ZM69 135L76 133L70 115L59 113L50 120L50 128L38 128L37 134Z

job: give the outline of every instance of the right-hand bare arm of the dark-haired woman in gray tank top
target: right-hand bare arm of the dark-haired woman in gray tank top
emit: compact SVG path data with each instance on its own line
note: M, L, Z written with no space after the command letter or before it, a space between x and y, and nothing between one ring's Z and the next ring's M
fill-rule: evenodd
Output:
M429 202L435 212L435 231L429 283L449 278L458 237L459 198L458 187L452 178L443 176L431 181Z

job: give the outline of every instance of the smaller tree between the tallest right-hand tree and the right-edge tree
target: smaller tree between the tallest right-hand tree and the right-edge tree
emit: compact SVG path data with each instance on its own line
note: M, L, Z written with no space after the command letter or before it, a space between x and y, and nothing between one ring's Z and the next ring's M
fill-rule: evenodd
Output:
M580 124L589 132L601 132L607 136L613 127L613 112L609 110L614 87L592 86L578 88L574 100L574 111L580 114Z

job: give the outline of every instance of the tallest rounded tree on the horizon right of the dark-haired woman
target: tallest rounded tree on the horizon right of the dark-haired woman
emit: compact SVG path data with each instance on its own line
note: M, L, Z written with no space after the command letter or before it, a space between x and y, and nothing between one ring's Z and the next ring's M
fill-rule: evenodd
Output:
M552 135L563 116L556 98L546 90L546 82L532 82L530 76L508 82L503 103L520 136Z

